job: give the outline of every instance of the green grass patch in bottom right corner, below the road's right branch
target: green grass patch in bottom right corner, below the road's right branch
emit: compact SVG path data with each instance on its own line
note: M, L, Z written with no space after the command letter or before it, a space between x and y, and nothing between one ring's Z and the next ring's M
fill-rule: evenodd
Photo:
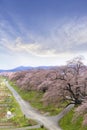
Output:
M63 130L87 130L82 126L83 117L80 116L76 121L72 121L74 110L72 109L67 115L60 120L60 126Z

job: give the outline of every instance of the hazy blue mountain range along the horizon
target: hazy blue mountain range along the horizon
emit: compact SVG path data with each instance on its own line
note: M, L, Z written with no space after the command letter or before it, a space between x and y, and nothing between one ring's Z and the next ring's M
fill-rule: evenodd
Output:
M18 71L25 71L25 70L32 70L32 69L51 69L53 66L38 66L38 67L31 67L31 66L19 66L14 69L9 70L2 70L0 69L0 73L3 72L18 72Z

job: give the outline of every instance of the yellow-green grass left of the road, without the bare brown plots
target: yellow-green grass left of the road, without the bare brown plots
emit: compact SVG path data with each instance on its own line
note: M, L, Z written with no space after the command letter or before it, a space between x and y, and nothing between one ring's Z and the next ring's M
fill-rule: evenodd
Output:
M31 120L31 119L27 119L21 109L19 104L17 103L16 99L13 97L12 93L10 92L10 90L5 86L4 82L2 79L0 79L0 91L4 93L7 93L9 96L6 95L6 97L3 97L3 101L0 102L2 104L6 104L7 106L4 107L3 109L0 110L1 113L7 113L7 111L11 111L12 114L14 115L12 118L7 119L6 117L3 117L0 119L0 121L3 123L5 122L11 122L13 124L14 127L25 127L25 126L32 126L32 125L36 125L36 122Z

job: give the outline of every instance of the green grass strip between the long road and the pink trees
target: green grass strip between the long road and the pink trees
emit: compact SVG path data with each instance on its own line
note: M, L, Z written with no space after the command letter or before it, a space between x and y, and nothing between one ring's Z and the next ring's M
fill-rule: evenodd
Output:
M49 115L56 115L63 109L63 107L58 108L55 107L53 104L44 105L41 101L44 93L41 91L25 91L17 87L13 82L9 81L9 83L24 100L28 101L32 107L36 108L41 113L48 112Z

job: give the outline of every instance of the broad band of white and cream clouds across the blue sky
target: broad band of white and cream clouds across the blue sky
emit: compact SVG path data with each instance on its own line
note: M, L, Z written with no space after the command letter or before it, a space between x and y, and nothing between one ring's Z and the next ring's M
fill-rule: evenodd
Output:
M58 56L64 53L83 53L87 50L87 18L73 19L52 27L47 35L28 34L9 41L2 38L0 44L10 51L32 53L37 56ZM29 32L30 33L30 32Z

